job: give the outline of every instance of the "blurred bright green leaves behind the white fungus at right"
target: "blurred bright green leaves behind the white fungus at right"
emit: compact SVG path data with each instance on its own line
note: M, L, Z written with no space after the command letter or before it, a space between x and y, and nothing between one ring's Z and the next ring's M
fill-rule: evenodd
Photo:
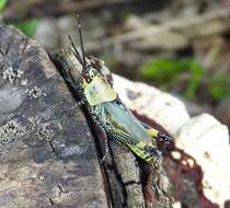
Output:
M203 66L193 58L150 60L140 69L145 80L153 81L166 90L173 88L182 74L186 73L186 86L182 85L186 99L193 100L202 84L207 86L208 95L214 101L220 101L230 95L228 76L207 74ZM165 86L166 85L166 86Z

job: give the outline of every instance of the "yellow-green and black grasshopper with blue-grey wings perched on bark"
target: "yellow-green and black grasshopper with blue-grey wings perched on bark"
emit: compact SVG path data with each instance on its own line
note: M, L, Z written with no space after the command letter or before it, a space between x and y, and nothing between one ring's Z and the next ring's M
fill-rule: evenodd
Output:
M62 71L62 76L83 101L93 122L106 134L106 137L125 145L137 157L159 167L162 155L157 148L156 139L171 141L173 138L142 124L125 106L113 86L85 57L79 19L78 25L81 54L69 36L71 47L51 55L54 62ZM107 147L107 142L105 147ZM108 148L105 150L107 152Z

